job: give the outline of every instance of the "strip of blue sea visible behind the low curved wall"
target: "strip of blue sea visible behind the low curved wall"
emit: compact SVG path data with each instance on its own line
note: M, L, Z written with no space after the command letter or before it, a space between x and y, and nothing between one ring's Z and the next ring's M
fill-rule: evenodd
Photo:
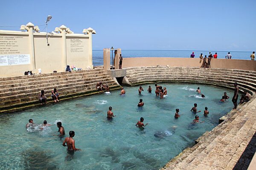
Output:
M177 58L190 58L190 54L194 52L195 58L199 58L200 54L209 55L217 53L219 59L225 59L228 52L232 55L232 59L248 59L252 51L206 51L206 50L123 50L122 56L124 58L130 57L177 57ZM114 57L114 56L113 56ZM112 53L111 53L112 58ZM112 64L112 61L111 61ZM103 65L103 49L93 50L93 65Z

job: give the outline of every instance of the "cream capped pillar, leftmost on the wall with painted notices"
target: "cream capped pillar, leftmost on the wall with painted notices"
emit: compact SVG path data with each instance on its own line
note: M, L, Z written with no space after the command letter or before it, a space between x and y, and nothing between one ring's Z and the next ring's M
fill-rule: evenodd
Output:
M33 30L34 30L34 24L32 23L27 23L26 27L29 28L29 48L30 48L30 59L31 59L31 70L32 72L37 72L36 71L36 65L35 65L35 44L34 44L34 35L33 35Z

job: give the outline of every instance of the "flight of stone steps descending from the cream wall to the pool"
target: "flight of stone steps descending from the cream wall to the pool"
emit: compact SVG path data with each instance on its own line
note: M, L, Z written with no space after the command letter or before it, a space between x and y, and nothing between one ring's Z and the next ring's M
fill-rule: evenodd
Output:
M119 87L103 68L0 78L0 113L39 105L41 90L45 91L47 102L52 102L53 88L57 88L61 100L96 93L97 82L112 89Z

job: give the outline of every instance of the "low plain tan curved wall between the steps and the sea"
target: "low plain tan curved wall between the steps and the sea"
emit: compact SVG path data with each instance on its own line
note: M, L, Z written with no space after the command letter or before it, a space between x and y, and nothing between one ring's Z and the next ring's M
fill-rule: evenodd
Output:
M169 65L170 67L201 67L199 58L132 57L123 58L122 68ZM244 59L212 59L211 68L256 71L256 61Z

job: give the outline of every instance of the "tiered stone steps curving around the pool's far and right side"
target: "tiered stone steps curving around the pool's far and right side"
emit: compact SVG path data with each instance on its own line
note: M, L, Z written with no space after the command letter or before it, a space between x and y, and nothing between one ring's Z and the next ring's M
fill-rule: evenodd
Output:
M169 161L161 170L246 170L256 150L256 71L188 68L126 68L131 85L148 82L193 82L233 88L253 94L250 102L230 111L227 119L199 137L197 144ZM249 144L250 142L253 145Z

